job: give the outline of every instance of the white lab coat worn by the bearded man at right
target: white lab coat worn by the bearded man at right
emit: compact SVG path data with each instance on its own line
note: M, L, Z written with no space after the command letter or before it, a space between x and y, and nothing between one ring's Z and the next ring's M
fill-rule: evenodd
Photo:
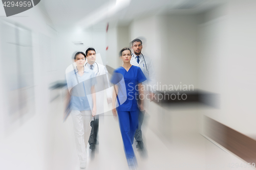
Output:
M133 53L130 63L132 65L135 65L135 66L138 66L141 68L143 74L145 75L145 77L147 79L142 84L144 86L147 86L147 85L149 86L149 88L146 88L148 91L155 92L157 90L156 72L155 72L152 60L151 60L151 58L149 58L145 55L142 55L142 54L140 54L139 56L140 56L140 61L139 61L139 63L137 63L136 55ZM144 56L144 58L143 58L143 56ZM144 59L145 59L145 61L144 61Z

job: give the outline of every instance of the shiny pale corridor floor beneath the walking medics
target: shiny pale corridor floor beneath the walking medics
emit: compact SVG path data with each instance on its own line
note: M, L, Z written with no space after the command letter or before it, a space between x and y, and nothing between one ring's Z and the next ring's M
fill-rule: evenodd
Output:
M54 106L53 110L58 109L57 105ZM80 169L72 119L69 117L62 123L61 118L61 113L52 114L53 134L45 169ZM137 150L134 143L138 169L244 169L247 164L201 134L174 134L169 140L155 134L150 128L144 129L143 134L144 152ZM100 116L98 137L96 151L92 152L88 147L86 169L128 170L119 125L112 113Z

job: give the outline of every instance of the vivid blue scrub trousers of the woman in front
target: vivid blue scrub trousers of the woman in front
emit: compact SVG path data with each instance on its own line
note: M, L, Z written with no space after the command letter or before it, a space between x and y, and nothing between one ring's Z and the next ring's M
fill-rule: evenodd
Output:
M138 128L139 111L118 111L119 126L127 159L134 157L133 140Z

